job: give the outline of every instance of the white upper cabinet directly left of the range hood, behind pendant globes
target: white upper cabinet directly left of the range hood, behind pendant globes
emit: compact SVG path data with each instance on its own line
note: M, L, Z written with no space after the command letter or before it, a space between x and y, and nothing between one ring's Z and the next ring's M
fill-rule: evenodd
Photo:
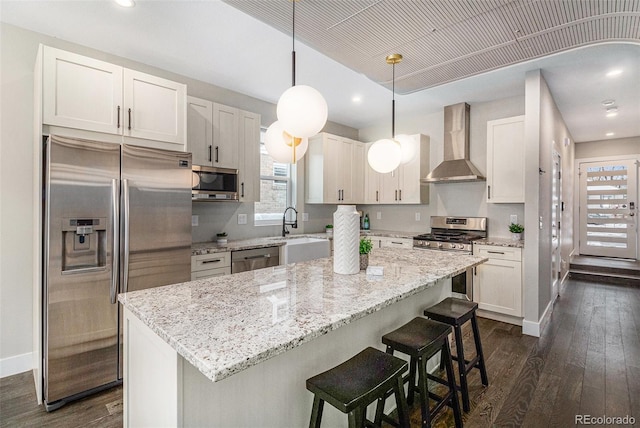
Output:
M429 203L429 185L420 183L420 179L429 173L429 137L421 134L411 137L416 154L410 162L394 171L377 173L365 161L367 204Z

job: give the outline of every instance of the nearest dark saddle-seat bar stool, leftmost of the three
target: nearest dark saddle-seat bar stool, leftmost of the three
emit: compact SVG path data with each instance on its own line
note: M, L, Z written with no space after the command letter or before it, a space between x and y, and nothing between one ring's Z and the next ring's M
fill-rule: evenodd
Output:
M406 361L369 347L344 363L307 379L307 389L314 394L309 427L320 427L325 401L348 414L349 428L370 426L372 423L365 414L367 406L393 390L399 419L394 425L409 428L409 409L402 384L405 371Z

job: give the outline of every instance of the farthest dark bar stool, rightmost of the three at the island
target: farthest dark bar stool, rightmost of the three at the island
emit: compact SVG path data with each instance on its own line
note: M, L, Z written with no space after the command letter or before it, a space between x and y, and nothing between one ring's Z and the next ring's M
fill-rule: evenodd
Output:
M480 370L480 377L484 386L489 385L487 378L487 368L484 364L484 355L482 353L482 343L480 342L480 332L478 330L478 320L476 318L476 310L478 304L469 302L464 299L456 299L447 297L440 303L424 310L424 315L436 320L449 324L453 327L456 339L456 353L452 356L458 362L458 371L460 372L460 390L462 391L462 407L465 412L471 408L469 405L469 386L467 383L467 375L469 372L477 368ZM464 357L464 347L462 345L462 325L467 321L471 321L473 329L473 341L476 345L476 356L472 360L466 360Z

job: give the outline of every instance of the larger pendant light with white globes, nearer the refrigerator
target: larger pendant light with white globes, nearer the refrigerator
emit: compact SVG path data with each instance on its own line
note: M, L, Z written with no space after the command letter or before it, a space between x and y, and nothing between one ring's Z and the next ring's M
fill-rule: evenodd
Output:
M291 50L291 88L278 100L278 120L269 126L265 148L278 162L296 163L308 147L308 138L322 130L327 122L327 102L311 86L296 85L296 2L293 4L293 30Z

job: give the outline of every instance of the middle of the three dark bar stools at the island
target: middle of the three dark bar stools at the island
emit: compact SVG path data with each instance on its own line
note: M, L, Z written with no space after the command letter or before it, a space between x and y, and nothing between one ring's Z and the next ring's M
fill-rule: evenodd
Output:
M451 326L426 318L414 318L397 330L382 336L382 343L387 345L387 353L393 355L394 351L402 352L411 357L409 375L405 381L409 382L407 402L413 403L414 393L420 394L420 411L422 413L422 426L430 427L433 418L448 405L453 409L453 416L457 428L462 427L462 415L458 404L458 394L456 392L456 381L453 373L453 362L449 349L449 334ZM427 361L438 351L442 352L447 379L427 373ZM416 385L416 370L418 371L418 384ZM448 387L447 393L443 396L429 392L427 379L438 382ZM433 410L429 409L429 399L435 400L436 405ZM382 415L384 408L384 398L378 400L376 419L385 419Z

